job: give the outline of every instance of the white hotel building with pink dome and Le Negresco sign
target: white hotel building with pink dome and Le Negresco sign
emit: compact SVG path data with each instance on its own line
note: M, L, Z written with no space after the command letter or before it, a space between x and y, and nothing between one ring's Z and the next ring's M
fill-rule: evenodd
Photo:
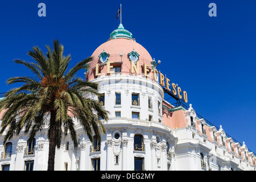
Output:
M191 104L187 107L187 93L163 78L158 63L122 24L92 56L85 77L98 83L102 95L94 99L110 111L109 120L102 121L106 134L90 142L74 119L79 147L69 135L63 138L55 170L255 171L255 154L245 142L202 118ZM177 103L165 101L164 94ZM47 170L47 128L32 142L23 132L6 144L4 137L1 170Z

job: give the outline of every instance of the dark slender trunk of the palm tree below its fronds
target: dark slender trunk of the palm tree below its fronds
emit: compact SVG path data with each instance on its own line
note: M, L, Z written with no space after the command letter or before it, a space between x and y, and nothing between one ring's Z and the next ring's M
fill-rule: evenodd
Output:
M49 152L48 152L48 169L47 171L54 171L55 164L55 150L56 150L56 112L51 111L51 119L49 126Z

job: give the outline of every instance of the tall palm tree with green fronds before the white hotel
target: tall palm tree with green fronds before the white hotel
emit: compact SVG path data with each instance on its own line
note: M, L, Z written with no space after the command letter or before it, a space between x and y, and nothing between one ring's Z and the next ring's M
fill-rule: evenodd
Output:
M48 126L48 171L54 170L55 149L60 148L61 138L64 135L70 134L74 146L78 146L75 123L72 118L78 119L92 141L93 131L98 139L105 133L98 115L108 120L109 114L98 101L92 99L92 96L100 97L98 85L76 77L78 71L88 68L88 63L93 58L84 59L67 71L71 56L63 55L64 47L58 40L53 40L53 47L52 50L46 46L46 55L37 46L28 51L27 54L36 63L14 60L15 63L25 65L35 76L9 78L8 85L16 82L22 82L23 85L6 92L5 100L0 102L0 111L5 111L0 135L12 123L3 143L13 135L19 135L20 131L27 133L29 140L32 140L38 131ZM20 120L13 123L15 117L20 117Z

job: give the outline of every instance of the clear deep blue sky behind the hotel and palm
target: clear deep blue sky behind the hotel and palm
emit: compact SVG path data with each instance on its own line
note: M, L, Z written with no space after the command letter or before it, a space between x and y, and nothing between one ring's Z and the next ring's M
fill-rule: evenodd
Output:
M46 17L38 16L40 2ZM212 2L216 17L208 15ZM0 93L18 86L7 86L7 78L31 75L13 60L32 61L26 53L35 45L46 51L59 39L72 56L71 67L91 56L118 27L120 3L123 26L161 60L158 69L187 91L187 105L256 152L254 0L3 1Z

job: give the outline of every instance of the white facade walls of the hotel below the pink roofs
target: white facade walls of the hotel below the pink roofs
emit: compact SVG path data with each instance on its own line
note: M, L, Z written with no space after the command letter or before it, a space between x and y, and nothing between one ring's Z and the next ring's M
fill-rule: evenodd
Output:
M60 149L56 150L55 170L90 171L96 169L95 165L99 165L101 171L134 170L134 163L138 159L141 159L143 170L255 170L255 165L251 166L249 160L243 160L241 156L237 158L234 152L228 152L228 148L218 142L210 142L207 135L200 135L200 131L191 127L191 123L185 128L171 129L159 122L162 113L158 113L156 103L162 102L163 90L155 82L143 77L122 75L100 77L94 81L100 84L100 92L105 93L104 106L110 111L110 119L104 123L106 135L102 136L100 150L93 150L93 143L75 121L79 147L73 148L71 138L65 137ZM121 93L121 104L115 104L115 93ZM139 93L138 106L131 104L132 93ZM148 97L153 100L153 109L148 109ZM121 111L120 117L115 117L116 111ZM139 119L133 119L132 112L138 112ZM196 117L192 107L185 114L188 121ZM148 121L148 115L152 115L152 121ZM196 125L200 125L200 122L204 122L203 119L197 121ZM216 129L212 127L212 130ZM220 138L225 135L223 129L216 130L216 133ZM143 146L136 148L135 135L142 136ZM5 146L0 145L2 169L10 165L10 170L24 170L25 163L34 162L33 170L47 170L47 130L36 135L33 154L26 154L27 139L27 135L21 133L19 137L7 141L13 144L13 148L10 157L6 158L3 157ZM247 150L245 145L241 148ZM100 163L97 164L98 159Z

